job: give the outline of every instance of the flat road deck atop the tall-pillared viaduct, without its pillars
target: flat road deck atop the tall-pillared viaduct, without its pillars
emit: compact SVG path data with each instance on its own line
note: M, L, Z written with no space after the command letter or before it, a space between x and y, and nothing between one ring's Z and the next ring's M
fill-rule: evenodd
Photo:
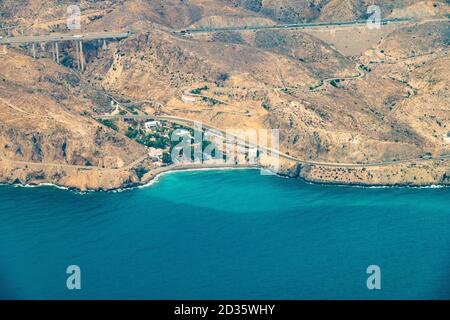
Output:
M129 33L125 33L125 32L92 32L92 33L80 33L80 34L60 33L60 34L49 34L49 35L42 35L42 36L5 37L5 38L0 39L0 44L124 39L124 38L127 38L129 35L130 35Z

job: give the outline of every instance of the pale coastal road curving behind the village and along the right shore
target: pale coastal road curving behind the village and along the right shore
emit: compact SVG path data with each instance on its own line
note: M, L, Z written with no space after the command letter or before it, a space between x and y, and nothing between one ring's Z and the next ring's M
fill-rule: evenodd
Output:
M96 119L101 120L118 120L118 119L133 119L133 120L163 120L168 121L172 123L176 123L179 125L184 125L190 128L194 128L195 124L200 123L200 121L191 120L187 118L182 117L176 117L176 116L165 116L165 115L104 115L104 116L98 116L95 117ZM309 165L315 165L315 166L324 166L324 167L336 167L336 168L365 168L365 167L383 167L383 166L389 166L389 165L395 165L395 164L401 164L401 163L410 163L410 162L421 162L421 161L432 161L432 160L446 160L450 159L450 154L442 155L439 157L429 157L429 158L412 158L412 159L401 159L397 161L383 161L383 162L373 162L373 163L339 163L339 162L321 162L321 161L312 161L312 160L304 160L299 159L296 157L293 157L291 155L288 155L286 153L283 153L279 150L272 149L269 147L259 146L252 143L248 143L245 139L242 139L239 136L236 136L234 134L227 133L225 130L219 129L217 127L201 123L203 129L211 130L218 132L220 135L225 137L227 134L230 137L233 137L236 139L236 141L246 147L252 147L252 148L258 148L259 150L272 154L274 156L278 156L280 158L283 158L285 160L290 160L294 162L298 162L301 164L309 164Z

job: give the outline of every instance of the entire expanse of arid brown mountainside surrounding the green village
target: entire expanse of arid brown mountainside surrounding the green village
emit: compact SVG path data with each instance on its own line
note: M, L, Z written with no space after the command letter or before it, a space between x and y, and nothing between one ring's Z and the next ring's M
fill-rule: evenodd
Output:
M221 129L279 129L282 151L309 161L395 162L447 154L446 21L398 25L357 56L300 30L189 36L170 30L359 19L370 3L81 2L85 31L131 30L133 35L106 50L86 43L84 73L74 70L70 43L62 45L63 65L51 61L49 50L40 52L39 60L30 58L26 47L0 56L0 178L81 189L138 183L136 161L146 147L94 119L113 111L111 96L131 104L158 102L165 114ZM442 18L443 3L377 4L384 17L422 12ZM61 17L68 4L3 1L0 11L3 21L27 25L27 32L64 32ZM346 30L345 37L352 37L356 29ZM370 43L372 35L367 37ZM184 93L199 88L205 88L203 99L182 101ZM220 103L211 104L208 97ZM299 174L319 182L423 185L448 183L448 169L448 161L430 160L364 171L304 166ZM283 165L286 174L295 176L296 170L293 163Z

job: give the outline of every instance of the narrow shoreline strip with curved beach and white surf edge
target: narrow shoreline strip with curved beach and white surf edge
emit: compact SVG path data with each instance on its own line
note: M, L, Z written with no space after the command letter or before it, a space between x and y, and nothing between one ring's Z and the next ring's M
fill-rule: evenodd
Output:
M450 188L449 184L424 184L415 185L410 183L395 183L395 184L369 184L369 183L354 183L354 182L334 182L334 181L315 181L314 179L307 179L301 177L299 174L289 175L287 173L275 173L268 168L261 165L214 165L214 164L195 164L195 165L168 165L159 167L149 171L144 175L144 178L139 183L125 184L117 188L111 189L87 189L81 190L75 187L67 187L64 185L58 185L50 182L43 183L1 183L0 186L14 186L22 188L37 188L37 187L54 187L60 190L71 191L79 194L94 193L94 192L125 192L135 189L145 189L151 187L159 182L159 178L177 172L189 172L189 171L215 171L215 170L265 170L271 173L273 176L284 179L296 179L309 185L319 185L324 187L352 187L352 188L367 188L367 189L388 189L388 188L408 188L408 189L437 189L437 188Z

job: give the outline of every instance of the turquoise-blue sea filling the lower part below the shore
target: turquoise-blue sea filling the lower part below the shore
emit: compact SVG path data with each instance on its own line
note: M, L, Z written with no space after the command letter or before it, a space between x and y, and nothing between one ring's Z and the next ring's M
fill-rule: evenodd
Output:
M66 288L81 268L82 289ZM366 268L381 268L381 290ZM309 185L256 170L143 189L0 186L0 297L450 298L450 189Z

